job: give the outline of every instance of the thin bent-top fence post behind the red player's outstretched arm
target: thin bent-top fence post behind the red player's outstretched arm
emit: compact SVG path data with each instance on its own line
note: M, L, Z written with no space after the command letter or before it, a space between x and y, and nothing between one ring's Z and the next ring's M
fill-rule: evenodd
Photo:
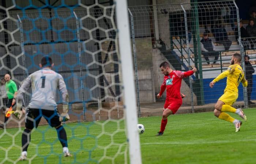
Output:
M188 42L188 22L187 22L187 12L185 11L183 5L181 4L181 8L184 12L184 20L185 20L185 29L186 29L186 42L187 42L187 51L188 51L188 67L191 68L190 63L190 51L189 51L189 42ZM192 77L189 76L189 85L190 85L190 93L191 93L191 107L192 107L192 113L195 113L194 109L194 102L193 102L193 86L192 86Z

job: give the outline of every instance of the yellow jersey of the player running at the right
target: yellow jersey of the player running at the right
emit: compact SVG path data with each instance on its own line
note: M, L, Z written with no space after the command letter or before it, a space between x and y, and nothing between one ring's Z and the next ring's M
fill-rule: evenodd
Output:
M227 77L227 85L224 90L231 90L236 91L238 93L238 85L240 82L242 82L243 86L247 86L247 81L244 77L244 71L242 70L242 67L238 64L230 65L226 71L219 74L217 78L215 78L213 81L217 82L221 79Z

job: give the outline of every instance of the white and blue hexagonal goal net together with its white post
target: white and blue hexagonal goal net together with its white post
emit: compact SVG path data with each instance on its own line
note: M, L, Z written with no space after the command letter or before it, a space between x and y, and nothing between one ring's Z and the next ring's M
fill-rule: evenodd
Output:
M10 0L0 8L1 79L10 74L19 89L49 55L69 94L70 120L63 126L73 156L63 156L56 130L42 118L32 130L27 161L141 163L126 1ZM25 117L4 122L4 91L3 81L0 163L18 163ZM23 97L27 109L31 89ZM56 102L62 113L59 91Z

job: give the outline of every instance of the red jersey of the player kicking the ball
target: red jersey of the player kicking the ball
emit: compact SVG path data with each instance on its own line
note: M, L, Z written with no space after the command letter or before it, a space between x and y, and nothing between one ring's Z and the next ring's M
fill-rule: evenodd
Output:
M192 70L187 72L173 70L169 75L163 77L163 83L159 94L162 95L166 88L166 99L181 99L180 87L182 78L188 77L193 73L194 72Z

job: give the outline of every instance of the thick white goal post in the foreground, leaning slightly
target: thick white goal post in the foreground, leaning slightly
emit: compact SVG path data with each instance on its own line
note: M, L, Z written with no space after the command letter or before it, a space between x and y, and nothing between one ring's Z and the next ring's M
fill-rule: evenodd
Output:
M126 11L126 12L125 12ZM141 164L140 141L137 130L138 117L136 107L135 83L133 77L133 63L131 39L126 0L116 0L116 17L118 29L118 49L123 71L123 90L125 102L125 120L129 144L129 158L131 164ZM125 76L124 76L125 71Z

